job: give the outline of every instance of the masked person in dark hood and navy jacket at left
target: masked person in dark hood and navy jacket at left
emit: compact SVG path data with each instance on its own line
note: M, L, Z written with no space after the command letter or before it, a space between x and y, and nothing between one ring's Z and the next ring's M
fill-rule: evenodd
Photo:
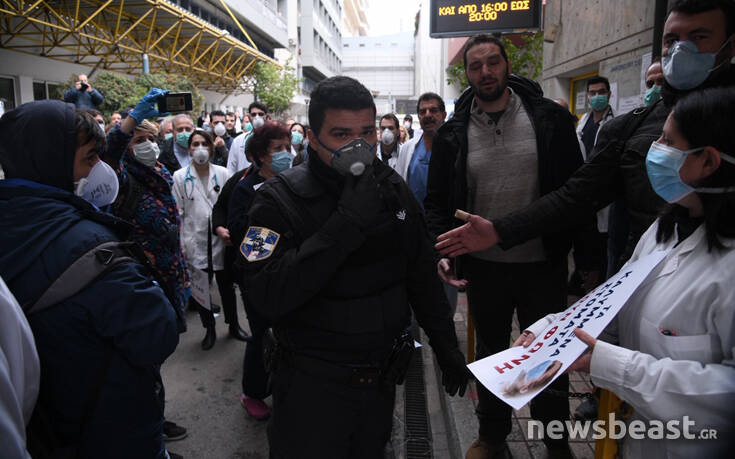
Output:
M118 191L102 131L48 100L6 113L0 136L0 276L26 306L47 421L29 429L31 455L168 457L159 368L178 344L176 311L139 259L115 255L129 225L98 209Z

